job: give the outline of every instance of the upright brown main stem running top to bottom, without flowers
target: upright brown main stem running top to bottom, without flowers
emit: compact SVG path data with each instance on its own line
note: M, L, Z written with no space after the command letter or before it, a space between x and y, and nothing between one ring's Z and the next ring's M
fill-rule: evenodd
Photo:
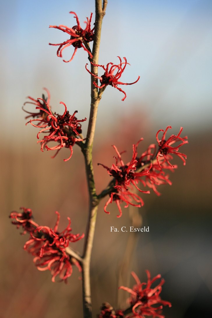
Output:
M94 40L93 40L93 50L91 59L93 64L98 64L99 59L99 46L101 37L101 26L102 19L105 15L107 0L95 0L96 16L95 16L95 30L94 30ZM91 64L91 73L98 75L98 66L93 66ZM88 225L85 236L85 246L82 256L82 288L83 288L83 313L84 318L92 318L92 302L91 302L91 284L90 284L90 262L91 262L91 252L93 245L93 237L96 225L96 216L98 210L99 199L96 195L94 176L93 176L93 164L92 164L92 148L93 139L97 119L97 110L100 98L98 97L98 88L93 84L98 79L91 75L91 110L88 122L88 131L86 136L85 146L82 152L85 157L85 169L86 178L88 184L89 193L89 215L88 215Z

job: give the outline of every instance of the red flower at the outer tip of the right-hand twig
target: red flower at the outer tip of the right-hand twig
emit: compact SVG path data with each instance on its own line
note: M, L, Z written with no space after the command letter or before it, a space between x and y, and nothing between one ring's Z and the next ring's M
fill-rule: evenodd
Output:
M159 145L159 150L158 150L158 153L157 153L157 162L158 162L158 165L159 167L161 167L160 165L160 161L159 161L159 157L163 157L164 160L173 168L174 166L169 162L169 159L173 159L172 156L168 156L168 154L175 154L177 155L178 157L181 158L181 160L183 161L183 164L185 165L186 164L186 155L185 154L182 154L181 152L178 152L179 148L184 145L185 143L188 143L188 137L185 136L185 137L180 137L181 135L181 132L183 130L183 128L181 127L180 128L180 131L179 133L175 136L175 135L171 135L167 140L165 139L166 137L166 133L168 131L168 129L171 129L172 127L171 126L168 126L166 128L166 130L164 131L163 129L160 129L158 130L157 134L156 134L156 139L157 139L157 142L158 142L158 145ZM162 135L162 138L159 140L158 138L158 135L159 133L163 131L163 135ZM177 145L177 147L173 147L172 145L175 143L175 142L180 142L179 145ZM161 167L162 168L162 167Z

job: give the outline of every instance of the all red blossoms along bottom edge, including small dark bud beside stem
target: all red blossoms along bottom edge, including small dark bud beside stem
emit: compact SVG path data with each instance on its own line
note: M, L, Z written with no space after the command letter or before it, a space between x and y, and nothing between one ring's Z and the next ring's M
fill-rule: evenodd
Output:
M132 276L136 281L136 285L133 288L128 288L120 286L119 289L126 290L130 293L130 307L126 310L115 311L109 303L104 303L101 307L101 313L98 318L146 318L146 316L151 316L152 318L164 318L161 315L163 306L171 307L169 301L161 300L160 294L162 291L162 285L165 280L161 279L160 283L152 287L154 282L161 278L158 274L153 279L151 279L150 272L147 270L147 283L141 283L138 276L132 272Z

